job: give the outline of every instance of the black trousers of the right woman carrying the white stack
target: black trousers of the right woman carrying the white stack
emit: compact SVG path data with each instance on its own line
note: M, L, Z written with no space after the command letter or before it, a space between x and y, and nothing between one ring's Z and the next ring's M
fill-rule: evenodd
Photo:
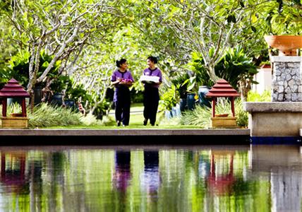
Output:
M150 124L156 122L156 114L159 102L158 88L145 87L144 91L144 117L150 119Z

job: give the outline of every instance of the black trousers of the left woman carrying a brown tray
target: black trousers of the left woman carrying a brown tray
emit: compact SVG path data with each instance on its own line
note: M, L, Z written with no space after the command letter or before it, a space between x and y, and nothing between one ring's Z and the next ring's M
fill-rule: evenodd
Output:
M130 90L126 87L116 88L115 119L116 122L123 122L123 125L129 125L130 119Z

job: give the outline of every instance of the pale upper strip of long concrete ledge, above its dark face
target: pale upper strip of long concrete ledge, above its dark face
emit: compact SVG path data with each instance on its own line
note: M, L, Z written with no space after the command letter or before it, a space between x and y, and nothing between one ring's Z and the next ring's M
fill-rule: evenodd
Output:
M249 136L250 129L0 129L0 136Z

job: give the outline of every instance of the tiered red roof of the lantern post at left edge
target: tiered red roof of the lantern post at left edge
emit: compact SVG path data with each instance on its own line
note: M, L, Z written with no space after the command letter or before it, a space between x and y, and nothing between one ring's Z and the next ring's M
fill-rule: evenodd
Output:
M11 78L10 81L0 90L0 97L24 97L29 98L30 95L19 85L16 79Z

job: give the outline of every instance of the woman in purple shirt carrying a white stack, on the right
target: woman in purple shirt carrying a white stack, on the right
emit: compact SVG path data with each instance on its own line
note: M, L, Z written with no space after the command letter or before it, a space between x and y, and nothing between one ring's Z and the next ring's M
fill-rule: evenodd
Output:
M144 70L143 75L146 76L158 76L159 82L158 83L144 83L144 122L143 124L146 126L148 119L150 119L150 124L152 126L155 125L156 122L156 114L159 102L159 85L162 83L162 71L160 71L155 64L157 64L156 57L148 57L147 58L147 65L149 66L147 69Z

